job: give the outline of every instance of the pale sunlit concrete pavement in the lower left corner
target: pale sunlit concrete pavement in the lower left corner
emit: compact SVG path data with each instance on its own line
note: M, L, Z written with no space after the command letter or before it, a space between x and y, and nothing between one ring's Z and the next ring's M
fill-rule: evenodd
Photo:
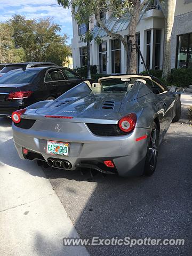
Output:
M0 118L0 255L88 256L63 247L63 237L79 236L41 168L18 157L10 125Z

